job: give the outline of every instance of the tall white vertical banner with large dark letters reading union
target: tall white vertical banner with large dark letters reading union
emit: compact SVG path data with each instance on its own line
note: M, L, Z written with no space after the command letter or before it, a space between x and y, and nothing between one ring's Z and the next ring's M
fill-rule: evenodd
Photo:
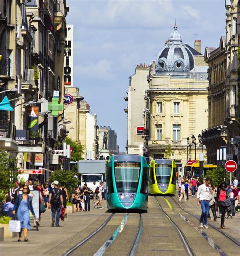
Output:
M64 86L73 87L73 25L65 28Z

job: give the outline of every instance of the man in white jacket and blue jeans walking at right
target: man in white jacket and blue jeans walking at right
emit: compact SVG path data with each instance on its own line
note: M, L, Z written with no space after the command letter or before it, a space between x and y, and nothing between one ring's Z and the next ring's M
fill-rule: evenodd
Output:
M209 214L210 194L213 194L210 181L210 178L206 178L204 184L199 185L197 190L197 205L201 205L202 209L199 228L208 229L207 221Z

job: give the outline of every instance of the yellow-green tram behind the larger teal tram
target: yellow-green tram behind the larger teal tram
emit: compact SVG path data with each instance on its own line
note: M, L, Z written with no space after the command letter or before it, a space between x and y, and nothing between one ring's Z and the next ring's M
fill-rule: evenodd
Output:
M153 160L150 163L150 194L173 195L176 190L176 169L174 160Z

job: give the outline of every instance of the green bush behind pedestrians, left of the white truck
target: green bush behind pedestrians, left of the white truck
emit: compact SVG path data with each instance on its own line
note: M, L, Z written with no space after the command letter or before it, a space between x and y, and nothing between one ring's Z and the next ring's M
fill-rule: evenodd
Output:
M69 196L71 196L75 188L78 186L78 178L74 178L74 176L74 171L58 170L51 173L49 181L53 182L54 180L57 180L61 185L65 185Z

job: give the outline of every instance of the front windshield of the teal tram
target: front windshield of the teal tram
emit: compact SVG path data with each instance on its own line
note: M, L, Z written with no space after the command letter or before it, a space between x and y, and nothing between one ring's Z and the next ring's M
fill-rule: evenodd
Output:
M116 163L115 178L118 192L137 192L140 163Z

